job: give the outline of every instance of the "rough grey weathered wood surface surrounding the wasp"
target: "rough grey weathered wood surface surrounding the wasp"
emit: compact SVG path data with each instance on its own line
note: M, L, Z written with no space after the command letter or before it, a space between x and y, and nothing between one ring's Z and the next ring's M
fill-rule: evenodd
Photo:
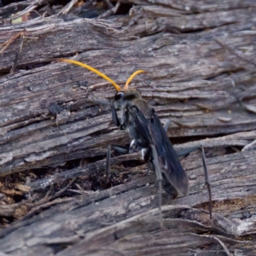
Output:
M38 8L46 3L22 4ZM20 218L0 230L0 252L255 255L256 3L123 3L135 4L130 15L108 20L52 15L10 25L3 19L0 176L83 161L13 190L0 186L5 195L31 193L0 205L2 217ZM1 8L0 15L12 8ZM128 143L125 132L113 125L109 106L94 101L111 102L112 85L81 67L53 61L56 57L84 61L120 85L137 69L147 71L131 86L142 91L163 123L172 121L168 135L174 148L201 145L207 150L212 220L205 212L199 153L182 159L189 195L174 202L163 195L165 230L155 209L154 173L138 154L112 158L114 172L128 177L123 184L97 192L80 189L76 193L82 195L67 198L51 195L50 186L74 177L104 176L108 145ZM49 193L38 200L42 189Z

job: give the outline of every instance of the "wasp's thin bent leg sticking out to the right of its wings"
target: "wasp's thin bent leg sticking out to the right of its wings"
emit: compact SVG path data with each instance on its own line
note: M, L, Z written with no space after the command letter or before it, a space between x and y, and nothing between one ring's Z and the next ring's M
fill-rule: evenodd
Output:
M202 162L203 162L204 172L205 172L205 186L207 186L208 193L209 193L209 213L210 213L210 218L212 218L212 190L211 190L211 183L210 183L209 174L207 170L205 149L202 147L186 148L186 149L183 149L182 151L177 152L177 156L187 155L198 149L201 149Z

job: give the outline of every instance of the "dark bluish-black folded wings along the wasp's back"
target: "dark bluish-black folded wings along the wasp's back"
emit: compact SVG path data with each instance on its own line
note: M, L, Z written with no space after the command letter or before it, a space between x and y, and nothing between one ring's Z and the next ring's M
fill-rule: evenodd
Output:
M172 143L167 137L160 119L151 108L151 118L147 119L143 112L137 108L137 113L132 114L136 129L140 137L153 144L159 156L160 171L163 175L163 186L175 198L177 195L186 195L189 190L188 177L183 170Z

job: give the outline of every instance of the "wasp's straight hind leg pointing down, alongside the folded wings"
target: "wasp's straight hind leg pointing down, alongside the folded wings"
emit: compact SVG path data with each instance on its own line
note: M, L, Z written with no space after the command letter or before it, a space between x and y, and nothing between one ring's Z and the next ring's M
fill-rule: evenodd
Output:
M162 172L160 171L160 165L159 165L159 161L158 161L158 154L156 152L156 149L154 147L154 145L150 144L150 148L152 151L152 155L153 155L153 166L154 166L154 172L156 175L156 181L158 181L159 184L159 210L160 210L160 227L163 228L163 216L162 216L162 181L163 181L163 177L162 177Z

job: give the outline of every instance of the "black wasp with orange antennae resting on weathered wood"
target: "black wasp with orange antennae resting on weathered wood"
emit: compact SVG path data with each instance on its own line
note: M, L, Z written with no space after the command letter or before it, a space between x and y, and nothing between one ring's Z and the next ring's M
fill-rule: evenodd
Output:
M121 89L112 79L108 78L104 73L99 72L94 67L90 67L79 61L68 59L56 59L57 61L65 61L81 67L85 67L90 71L98 74L103 79L108 80L113 84L117 90L113 103L111 104L113 123L119 127L120 130L125 130L130 136L130 147L113 145L108 147L107 154L107 169L109 169L109 159L111 148L118 150L121 153L135 152L141 150L143 160L148 161L156 174L156 180L159 183L159 207L161 218L161 192L162 188L172 196L174 200L178 195L188 195L189 193L189 179L183 166L178 160L178 156L189 154L200 147L188 148L184 152L177 154L172 147L172 143L167 136L168 124L164 127L160 119L147 101L143 99L142 93L137 89L129 89L131 80L139 73L144 73L143 70L131 74L127 79L124 89ZM122 113L119 119L117 110ZM212 194L207 172L207 165L204 156L204 149L202 151L202 160L205 170L205 178L209 193L209 213L212 218Z

